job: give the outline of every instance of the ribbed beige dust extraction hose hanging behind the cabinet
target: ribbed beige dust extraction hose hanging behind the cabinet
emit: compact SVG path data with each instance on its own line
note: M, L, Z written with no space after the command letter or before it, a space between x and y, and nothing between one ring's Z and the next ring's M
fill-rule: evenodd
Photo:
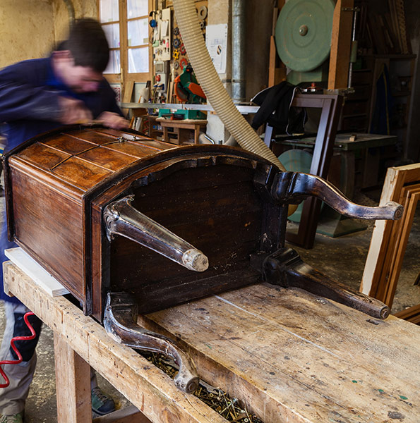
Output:
M194 0L173 0L173 2L176 21L191 65L212 108L222 119L224 126L242 148L259 154L275 164L281 171L286 171L275 154L251 128L244 116L239 113L224 89L208 49L205 47Z

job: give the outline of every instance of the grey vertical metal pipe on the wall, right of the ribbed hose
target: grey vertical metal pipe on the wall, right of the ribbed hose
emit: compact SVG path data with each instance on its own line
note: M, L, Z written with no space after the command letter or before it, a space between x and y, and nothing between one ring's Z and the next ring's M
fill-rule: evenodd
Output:
M232 100L245 102L245 0L232 0Z

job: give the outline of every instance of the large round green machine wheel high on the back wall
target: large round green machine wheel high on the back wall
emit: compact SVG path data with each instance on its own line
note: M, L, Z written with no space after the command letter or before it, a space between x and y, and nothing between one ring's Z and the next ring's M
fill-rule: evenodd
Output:
M288 0L275 28L277 53L293 71L308 72L330 54L333 0Z

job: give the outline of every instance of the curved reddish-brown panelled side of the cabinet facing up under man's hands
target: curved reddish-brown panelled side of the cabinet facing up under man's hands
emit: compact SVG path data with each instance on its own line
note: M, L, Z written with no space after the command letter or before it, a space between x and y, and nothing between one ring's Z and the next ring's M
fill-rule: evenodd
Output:
M172 148L143 135L84 128L40 135L13 155L11 166L19 163L20 167L42 169L56 177L58 184L70 183L85 192L133 162Z

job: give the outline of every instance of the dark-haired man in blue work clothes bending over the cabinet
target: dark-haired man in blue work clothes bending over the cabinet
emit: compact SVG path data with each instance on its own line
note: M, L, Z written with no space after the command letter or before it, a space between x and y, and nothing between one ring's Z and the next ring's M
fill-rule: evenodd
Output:
M115 94L102 76L109 61L109 46L102 27L96 20L80 19L71 27L68 39L46 59L16 63L0 71L0 122L6 123L6 149L63 124L102 121L114 129L128 126L116 104ZM4 250L16 246L7 240L3 222L0 238L0 259ZM28 329L23 315L29 310L3 290L0 272L1 299L6 312L6 329L0 348L0 360L16 360L10 348L13 336L25 336ZM23 355L20 364L6 364L10 379L0 388L0 423L23 422L25 400L35 372L41 321L31 317L37 337L33 341L17 341ZM100 415L114 410L114 402L104 396L92 374L92 409Z

